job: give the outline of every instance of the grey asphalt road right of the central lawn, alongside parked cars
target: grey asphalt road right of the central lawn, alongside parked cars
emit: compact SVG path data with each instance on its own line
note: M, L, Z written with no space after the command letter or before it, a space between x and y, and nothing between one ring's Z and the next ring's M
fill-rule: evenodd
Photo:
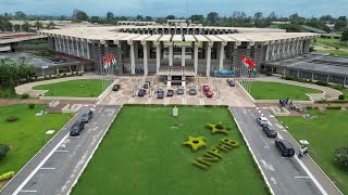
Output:
M231 107L231 109L274 194L323 194L296 156L291 158L281 156L274 144L275 139L268 138L256 121L260 115L254 107Z

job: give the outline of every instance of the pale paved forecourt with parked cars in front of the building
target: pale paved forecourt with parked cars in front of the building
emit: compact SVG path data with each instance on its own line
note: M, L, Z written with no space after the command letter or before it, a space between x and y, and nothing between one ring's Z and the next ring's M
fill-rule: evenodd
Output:
M146 89L144 96L138 96L138 91L146 81L151 82L150 89ZM184 88L184 94L177 94L177 86L172 84L174 96L166 96L169 88L153 76L146 78L119 78L116 83L121 86L120 91L111 91L100 104L123 105L123 104L190 104L190 105L229 105L253 107L253 103L247 99L238 87L229 87L226 78L196 78L188 81ZM202 87L209 84L213 92L212 98L207 98ZM197 94L190 95L189 88L196 86ZM157 90L164 90L163 99L158 99Z

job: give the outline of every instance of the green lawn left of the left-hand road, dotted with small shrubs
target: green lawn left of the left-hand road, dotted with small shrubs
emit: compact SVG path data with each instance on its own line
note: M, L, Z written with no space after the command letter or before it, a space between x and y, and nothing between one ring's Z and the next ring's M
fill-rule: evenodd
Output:
M0 107L0 143L9 144L11 148L0 160L0 174L17 172L45 145L44 122L35 116L45 108L45 105L36 105L34 109L28 109L24 104ZM8 122L9 116L17 116L18 120ZM53 129L57 133L72 115L47 114L42 117L46 130Z

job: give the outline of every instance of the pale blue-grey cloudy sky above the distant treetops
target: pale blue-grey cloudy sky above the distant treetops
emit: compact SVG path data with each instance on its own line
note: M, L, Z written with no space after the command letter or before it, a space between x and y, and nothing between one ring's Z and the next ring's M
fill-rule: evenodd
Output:
M104 16L108 11L115 15L186 16L187 0L0 0L0 14L24 11L27 14L72 15L79 9L89 16ZM207 15L217 12L231 16L233 11L248 15L261 11L266 16L275 11L278 16L299 13L302 16L331 14L348 15L348 0L188 0L188 14Z

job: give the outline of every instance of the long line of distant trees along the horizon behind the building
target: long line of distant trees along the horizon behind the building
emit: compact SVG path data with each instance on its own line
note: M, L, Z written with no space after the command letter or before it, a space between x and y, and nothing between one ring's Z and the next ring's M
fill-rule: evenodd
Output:
M119 21L151 21L157 23L165 23L166 20L182 18L185 17L176 17L174 15L167 15L165 17L151 17L151 16L142 16L136 15L134 17L126 16L116 16L113 12L107 12L104 16L89 16L85 11L75 9L73 11L72 16L41 16L41 17L33 17L28 16L22 11L17 11L14 15L5 13L0 15L0 30L12 28L11 24L7 22L7 20L35 20L35 27L40 29L44 25L40 23L40 20L71 20L75 23L80 22L89 22L94 24L116 24ZM334 30L344 30L347 28L347 16L339 16L337 18L332 15L322 15L320 17L310 17L306 18L298 13L294 13L287 17L278 16L275 12L265 15L262 12L256 12L252 16L247 15L245 12L234 11L231 16L220 16L217 12L210 12L206 16L201 14L194 14L189 17L194 23L200 23L203 26L234 26L234 27L257 27L257 28L265 28L272 27L272 24L276 24L278 28L286 29L287 31L302 31L302 25L311 26L314 28L319 28L325 30L327 32L332 31L332 29L327 25L334 25ZM23 25L25 30L30 26L28 23ZM54 23L48 24L45 28L54 28Z

